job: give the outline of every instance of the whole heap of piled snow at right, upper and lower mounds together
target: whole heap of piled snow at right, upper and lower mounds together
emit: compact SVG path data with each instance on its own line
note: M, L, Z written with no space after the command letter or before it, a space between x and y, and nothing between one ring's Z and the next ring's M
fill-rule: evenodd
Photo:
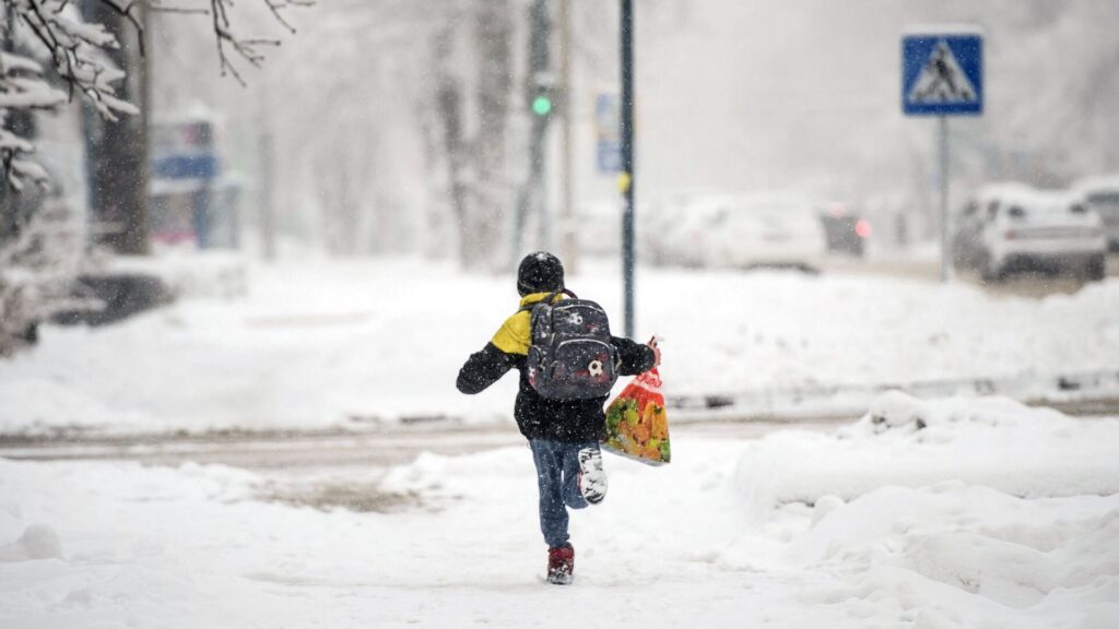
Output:
M721 561L828 574L838 584L802 600L859 618L1113 627L1117 449L1116 420L886 394L835 434L747 447L736 487L765 536L741 537Z

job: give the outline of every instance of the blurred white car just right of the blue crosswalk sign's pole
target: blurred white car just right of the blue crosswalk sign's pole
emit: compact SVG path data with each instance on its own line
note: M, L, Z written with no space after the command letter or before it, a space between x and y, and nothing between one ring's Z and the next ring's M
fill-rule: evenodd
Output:
M987 281L1027 270L1103 279L1102 223L1076 194L987 187L968 203L957 227L958 260Z

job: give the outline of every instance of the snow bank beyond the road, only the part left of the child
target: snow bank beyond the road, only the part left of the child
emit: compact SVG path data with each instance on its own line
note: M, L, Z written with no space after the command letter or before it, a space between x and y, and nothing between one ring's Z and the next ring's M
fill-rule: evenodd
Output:
M45 329L34 351L0 363L0 432L361 428L511 414L515 378L483 397L453 386L461 362L516 304L491 279L406 261L256 267L251 278L244 300L187 299L120 326ZM470 295L483 306L446 316Z

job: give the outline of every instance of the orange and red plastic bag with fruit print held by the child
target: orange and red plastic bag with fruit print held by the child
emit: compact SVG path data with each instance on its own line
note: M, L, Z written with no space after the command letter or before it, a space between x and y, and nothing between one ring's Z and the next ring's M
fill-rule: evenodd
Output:
M668 412L657 369L633 378L606 406L606 434L602 448L650 466L671 459Z

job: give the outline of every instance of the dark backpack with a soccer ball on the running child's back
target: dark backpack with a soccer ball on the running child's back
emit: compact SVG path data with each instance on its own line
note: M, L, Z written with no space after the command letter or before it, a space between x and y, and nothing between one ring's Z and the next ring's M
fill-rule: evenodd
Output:
M548 400L590 400L610 395L618 379L617 350L610 342L606 311L579 299L553 303L561 291L526 306L532 312L528 383Z

